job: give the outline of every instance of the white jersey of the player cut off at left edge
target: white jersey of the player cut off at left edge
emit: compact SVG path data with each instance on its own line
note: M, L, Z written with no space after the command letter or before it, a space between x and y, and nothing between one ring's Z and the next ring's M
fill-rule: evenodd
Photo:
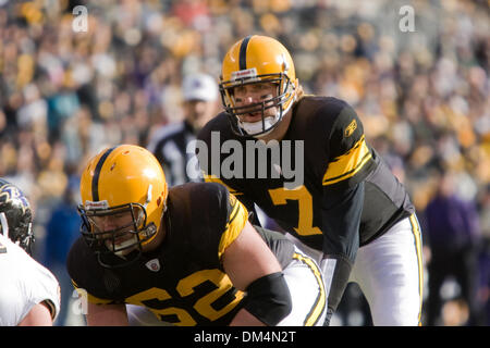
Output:
M0 326L16 326L40 302L49 307L54 321L60 312L57 278L24 249L0 235Z

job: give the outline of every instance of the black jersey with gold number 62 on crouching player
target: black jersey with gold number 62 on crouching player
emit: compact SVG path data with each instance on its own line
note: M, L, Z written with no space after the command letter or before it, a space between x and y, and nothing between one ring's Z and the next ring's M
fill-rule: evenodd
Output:
M222 185L209 183L172 187L167 203L167 234L158 250L127 266L106 269L81 237L68 258L72 282L94 303L144 306L182 326L228 325L244 293L233 287L220 257L243 229L247 210ZM294 246L280 234L257 229L285 268Z

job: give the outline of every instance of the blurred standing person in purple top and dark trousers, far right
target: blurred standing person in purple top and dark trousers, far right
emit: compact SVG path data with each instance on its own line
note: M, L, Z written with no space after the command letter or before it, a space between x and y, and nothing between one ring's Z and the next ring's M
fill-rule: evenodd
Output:
M479 324L478 245L480 231L474 202L456 195L454 174L443 173L436 196L425 211L431 259L429 262L428 325L438 325L443 299L442 284L454 276L461 287L461 298L469 309L469 325Z

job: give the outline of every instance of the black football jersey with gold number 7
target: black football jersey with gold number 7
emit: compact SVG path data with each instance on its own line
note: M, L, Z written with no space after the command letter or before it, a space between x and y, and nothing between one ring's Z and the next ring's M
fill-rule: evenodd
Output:
M198 144L196 153L206 181L225 185L248 209L257 203L309 247L330 251L323 248L323 234L342 239L335 236L343 232L326 227L328 220L339 215L323 207L330 196L358 183L364 183L359 246L414 212L404 186L368 145L360 120L344 101L302 98L293 109L285 137L277 146L271 142L267 156L259 146L253 146L254 141L258 144L256 139L234 135L229 117L224 112L219 114L198 135L203 144ZM203 148L206 151L201 152ZM292 170L303 170L294 187ZM346 243L352 241L339 240Z

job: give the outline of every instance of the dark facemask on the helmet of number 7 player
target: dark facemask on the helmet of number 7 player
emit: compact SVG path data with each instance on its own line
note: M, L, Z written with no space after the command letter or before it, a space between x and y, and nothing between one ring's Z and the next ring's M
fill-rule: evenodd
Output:
M244 71L236 72L236 75L243 74ZM284 73L256 75L256 70L252 69L247 72L248 76L232 78L220 84L220 92L225 111L230 115L232 130L238 136L264 137L273 128L275 128L283 116L290 111L295 100L295 85ZM234 77L234 76L232 76ZM234 98L234 88L238 86L266 84L277 85L277 94L267 100L247 104L236 105ZM275 115L266 115L266 110L277 108ZM255 123L243 122L240 116L246 114L261 113L261 121Z

